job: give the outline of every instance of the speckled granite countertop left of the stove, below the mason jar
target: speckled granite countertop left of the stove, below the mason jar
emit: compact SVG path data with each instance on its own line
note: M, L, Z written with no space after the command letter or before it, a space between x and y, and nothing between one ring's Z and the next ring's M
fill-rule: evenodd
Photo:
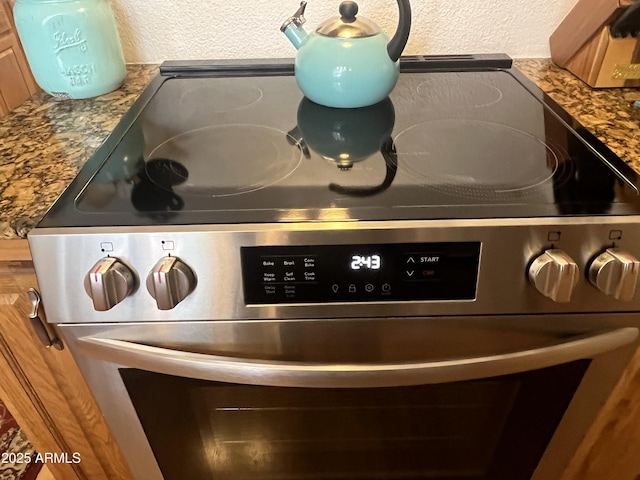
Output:
M157 73L129 65L112 93L58 102L41 92L0 119L0 238L26 238Z

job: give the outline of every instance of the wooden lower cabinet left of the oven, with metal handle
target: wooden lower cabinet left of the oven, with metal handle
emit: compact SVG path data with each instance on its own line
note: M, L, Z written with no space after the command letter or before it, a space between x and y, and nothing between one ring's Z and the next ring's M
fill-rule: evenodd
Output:
M77 464L47 465L56 480L130 479L69 350L45 348L31 326L27 292L37 283L26 241L0 243L0 398L38 452L80 454Z

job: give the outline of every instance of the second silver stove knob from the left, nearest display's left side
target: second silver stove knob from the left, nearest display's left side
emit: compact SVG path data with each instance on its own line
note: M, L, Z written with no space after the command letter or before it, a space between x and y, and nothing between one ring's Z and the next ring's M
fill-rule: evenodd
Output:
M156 299L159 310L171 310L184 300L196 286L196 276L177 257L164 257L147 277L147 290Z

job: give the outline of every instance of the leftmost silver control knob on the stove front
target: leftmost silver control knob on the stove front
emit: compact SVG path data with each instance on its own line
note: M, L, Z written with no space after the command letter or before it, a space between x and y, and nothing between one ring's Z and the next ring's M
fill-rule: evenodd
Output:
M100 260L84 278L84 289L98 312L111 310L131 294L135 285L133 271L113 257Z

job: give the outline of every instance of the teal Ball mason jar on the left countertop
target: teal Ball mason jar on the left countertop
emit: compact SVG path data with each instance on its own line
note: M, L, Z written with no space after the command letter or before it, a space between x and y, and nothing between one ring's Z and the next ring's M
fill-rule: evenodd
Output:
M90 98L124 81L109 0L18 0L18 36L38 85L59 99Z

